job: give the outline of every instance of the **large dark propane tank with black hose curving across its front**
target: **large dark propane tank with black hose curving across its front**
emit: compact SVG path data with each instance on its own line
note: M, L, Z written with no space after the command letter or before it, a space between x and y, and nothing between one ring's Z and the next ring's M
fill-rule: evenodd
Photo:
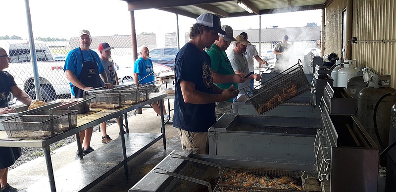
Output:
M396 90L389 87L378 89L366 87L359 92L356 117L378 147L381 147L381 144L377 139L374 129L374 107L382 96L393 93L396 93ZM387 96L382 99L377 109L377 128L381 141L385 146L388 146L389 142L390 111L392 105L395 103L396 96ZM384 148L382 148L382 150L384 150Z

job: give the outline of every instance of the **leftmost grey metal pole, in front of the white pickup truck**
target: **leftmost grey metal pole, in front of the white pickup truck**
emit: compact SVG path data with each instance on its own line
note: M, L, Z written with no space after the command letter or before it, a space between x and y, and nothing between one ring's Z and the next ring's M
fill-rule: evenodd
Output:
M32 69L33 69L34 88L35 88L35 91L36 91L36 98L39 99L39 100L42 100L42 98L41 98L41 90L40 90L39 72L38 72L37 60L36 60L36 48L34 47L34 37L33 37L33 30L32 30L32 18L30 17L29 0L25 0L25 8L26 8L26 20L27 20L27 23L28 23L29 48L30 48L30 58L31 58L31 61L32 61Z

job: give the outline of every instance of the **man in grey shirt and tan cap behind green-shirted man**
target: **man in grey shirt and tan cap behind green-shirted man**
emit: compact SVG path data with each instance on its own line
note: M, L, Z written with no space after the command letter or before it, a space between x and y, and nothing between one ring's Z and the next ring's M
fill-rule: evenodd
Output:
M246 76L249 74L249 66L247 64L247 59L244 56L246 52L247 44L250 42L247 41L247 38L243 35L239 35L235 38L237 41L235 42L235 47L228 53L228 59L230 59L231 66L234 69L236 74L241 74ZM247 79L255 79L256 81L261 79L261 76L258 74L252 74L247 77ZM245 83L240 83L239 88L250 87L250 81L246 81ZM240 90L237 99L245 95L244 90Z

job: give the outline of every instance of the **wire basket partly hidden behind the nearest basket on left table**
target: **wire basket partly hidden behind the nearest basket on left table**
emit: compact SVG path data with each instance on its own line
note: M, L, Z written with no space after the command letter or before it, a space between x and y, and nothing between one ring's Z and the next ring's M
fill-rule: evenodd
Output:
M59 128L58 132L64 132L76 128L77 126L77 110L41 110L29 115L55 115L59 116Z

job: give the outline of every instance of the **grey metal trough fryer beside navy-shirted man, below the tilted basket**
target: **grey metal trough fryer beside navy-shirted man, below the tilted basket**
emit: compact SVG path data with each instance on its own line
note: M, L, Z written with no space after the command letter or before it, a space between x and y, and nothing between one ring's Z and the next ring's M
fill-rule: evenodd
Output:
M225 113L209 128L209 154L315 164L312 144L320 127L319 118Z

